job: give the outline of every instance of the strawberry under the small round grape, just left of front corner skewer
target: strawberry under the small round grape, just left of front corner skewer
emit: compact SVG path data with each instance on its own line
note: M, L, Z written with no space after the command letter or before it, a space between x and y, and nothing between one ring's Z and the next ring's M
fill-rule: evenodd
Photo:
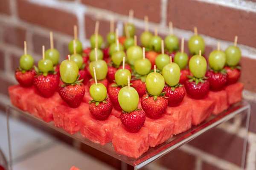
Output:
M97 106L96 106L97 105ZM98 120L105 120L110 115L113 104L109 98L102 102L90 102L89 111Z

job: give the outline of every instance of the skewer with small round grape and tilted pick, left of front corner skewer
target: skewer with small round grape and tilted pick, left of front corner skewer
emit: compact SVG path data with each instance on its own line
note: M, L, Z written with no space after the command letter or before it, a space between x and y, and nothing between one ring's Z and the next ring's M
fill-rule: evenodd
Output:
M90 86L90 100L89 111L98 120L105 120L110 115L113 105L107 96L107 88L102 83L97 82L95 68L93 68L93 75L95 83Z

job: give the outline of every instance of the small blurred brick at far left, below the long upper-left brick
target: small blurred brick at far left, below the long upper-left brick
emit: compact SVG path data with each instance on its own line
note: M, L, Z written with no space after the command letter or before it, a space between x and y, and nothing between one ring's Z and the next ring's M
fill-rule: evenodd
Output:
M7 24L3 24L2 28L4 42L20 48L24 48L24 41L26 40L25 29Z

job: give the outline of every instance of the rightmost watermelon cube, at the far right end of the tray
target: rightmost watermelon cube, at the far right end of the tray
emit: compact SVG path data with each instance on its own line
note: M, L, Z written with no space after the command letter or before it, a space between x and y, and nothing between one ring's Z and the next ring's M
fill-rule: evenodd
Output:
M244 84L241 82L236 82L232 85L227 85L224 90L227 91L228 103L233 105L241 101L242 99L242 91L244 89Z

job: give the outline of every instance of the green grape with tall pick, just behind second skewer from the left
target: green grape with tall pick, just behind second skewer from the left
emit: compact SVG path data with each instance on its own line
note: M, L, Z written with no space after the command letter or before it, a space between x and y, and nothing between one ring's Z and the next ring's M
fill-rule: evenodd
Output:
M49 48L47 51L45 51L45 58L52 60L53 65L58 65L58 60L60 58L60 54L59 54L58 50L56 50L53 46L52 31L50 31L50 44L51 44L51 48Z

